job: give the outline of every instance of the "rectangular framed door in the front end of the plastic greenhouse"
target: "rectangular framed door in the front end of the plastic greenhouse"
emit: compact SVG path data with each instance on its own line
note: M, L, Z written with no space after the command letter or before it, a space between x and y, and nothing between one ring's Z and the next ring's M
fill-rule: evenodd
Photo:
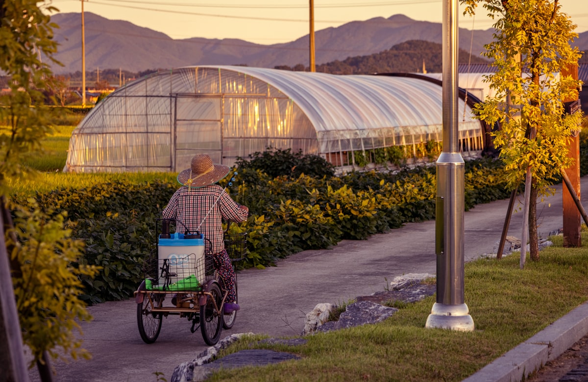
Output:
M182 171L189 167L192 155L198 153L210 155L214 163L222 163L225 94L172 94L172 97L174 107L171 134L172 171ZM196 118L199 111L202 111L205 117ZM208 138L202 141L189 139L190 136L195 135L208 136ZM193 147L182 147L182 144L193 144ZM186 158L187 167L185 167ZM182 168L178 168L178 165Z

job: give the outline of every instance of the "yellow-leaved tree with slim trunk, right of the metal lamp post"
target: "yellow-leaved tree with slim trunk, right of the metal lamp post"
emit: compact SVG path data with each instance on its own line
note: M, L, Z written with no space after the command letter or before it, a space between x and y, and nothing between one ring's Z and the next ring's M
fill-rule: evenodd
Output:
M577 65L581 52L570 45L577 33L559 0L460 0L473 15L482 4L493 18L493 42L483 53L496 72L486 77L496 95L476 104L477 116L491 125L505 163L511 190L524 184L528 208L530 257L539 259L537 198L567 168L568 139L577 133L582 111L564 112L562 100L577 94L580 82L560 72ZM526 232L526 231L524 231ZM523 235L524 236L524 235ZM526 240L525 240L526 242ZM523 244L524 245L524 244ZM524 248L524 247L523 247ZM524 251L520 266L524 265Z

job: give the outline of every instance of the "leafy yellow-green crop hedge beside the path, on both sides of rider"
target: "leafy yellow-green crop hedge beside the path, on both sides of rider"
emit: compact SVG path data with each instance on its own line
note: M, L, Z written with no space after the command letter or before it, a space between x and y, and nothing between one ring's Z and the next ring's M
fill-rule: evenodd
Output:
M465 182L466 209L509 195L497 161L468 161ZM84 261L102 267L95 279L83 280L83 299L96 303L132 296L144 277L143 259L155 250L155 220L176 187L168 182L120 182L36 195L39 205L67 212L72 236L86 244ZM320 178L271 178L249 167L239 169L228 191L252 212L246 224L231 225L232 232L249 233L249 253L238 268L263 268L291 253L435 218L434 165ZM25 200L16 202L26 205Z

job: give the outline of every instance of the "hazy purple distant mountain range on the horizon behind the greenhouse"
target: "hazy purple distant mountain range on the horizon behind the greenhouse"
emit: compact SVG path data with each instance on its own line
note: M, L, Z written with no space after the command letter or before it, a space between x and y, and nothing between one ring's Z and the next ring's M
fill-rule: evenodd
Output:
M288 43L260 45L240 39L172 39L165 33L84 12L86 70L123 69L140 72L189 65L248 65L255 67L308 66L308 35ZM59 43L53 65L56 74L82 69L81 13L56 13L51 21L59 25L54 39ZM479 55L492 41L493 29L460 28L459 46L472 46ZM409 40L442 42L442 23L415 21L404 15L353 21L337 28L315 32L316 64L371 55ZM576 44L588 48L588 32L580 33ZM582 49L586 50L586 49Z

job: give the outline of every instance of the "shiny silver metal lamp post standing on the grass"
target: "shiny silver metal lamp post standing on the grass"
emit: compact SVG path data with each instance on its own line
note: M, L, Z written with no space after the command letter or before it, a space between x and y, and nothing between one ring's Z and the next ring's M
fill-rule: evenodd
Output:
M436 163L437 300L425 327L471 332L474 322L463 298L465 163L457 133L458 10L457 0L443 2L443 151Z

